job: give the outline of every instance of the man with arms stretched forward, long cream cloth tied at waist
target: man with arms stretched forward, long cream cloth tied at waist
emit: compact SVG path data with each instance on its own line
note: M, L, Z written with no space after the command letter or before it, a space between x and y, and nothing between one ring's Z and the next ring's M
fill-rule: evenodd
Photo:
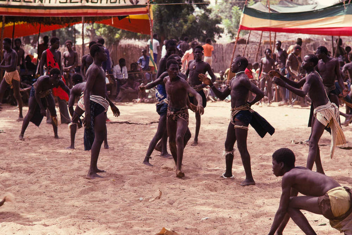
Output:
M319 140L324 132L324 128L328 125L332 128L332 141L330 149L330 157L333 157L335 145L346 144L344 133L339 125L339 109L335 103L330 102L325 92L323 80L319 73L314 71L314 67L318 64L318 58L309 54L303 58L301 68L307 74L298 82L285 78L277 71L270 71L269 75L274 77L274 82L293 93L305 97L309 95L313 108L315 119L312 122L312 130L309 138L309 151L307 159L307 168L312 169L315 162L317 172L324 174L323 166L320 159ZM302 89L299 89L302 87Z

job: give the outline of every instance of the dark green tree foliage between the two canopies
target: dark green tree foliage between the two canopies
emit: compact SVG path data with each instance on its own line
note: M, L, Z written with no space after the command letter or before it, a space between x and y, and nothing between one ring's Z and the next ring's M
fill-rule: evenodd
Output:
M153 7L154 32L159 38L205 41L206 38L215 40L223 29L218 26L221 19L211 17L211 9L203 0L156 0ZM168 3L168 4L158 4Z

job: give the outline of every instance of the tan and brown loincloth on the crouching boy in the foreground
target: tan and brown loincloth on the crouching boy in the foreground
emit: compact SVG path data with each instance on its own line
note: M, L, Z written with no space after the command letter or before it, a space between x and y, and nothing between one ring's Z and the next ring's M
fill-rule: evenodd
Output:
M318 198L318 206L323 216L330 220L334 229L352 234L352 195L347 187L330 189Z

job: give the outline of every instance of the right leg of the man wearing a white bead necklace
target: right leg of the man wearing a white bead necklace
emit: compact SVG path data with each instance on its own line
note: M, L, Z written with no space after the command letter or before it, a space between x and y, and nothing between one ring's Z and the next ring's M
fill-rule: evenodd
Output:
M245 126L242 122L238 120L235 121L235 125ZM247 150L248 129L236 128L235 134L236 134L238 152L241 156L244 172L246 174L245 180L243 180L240 183L240 185L242 186L254 185L255 182L252 176L252 169L250 166L250 156Z

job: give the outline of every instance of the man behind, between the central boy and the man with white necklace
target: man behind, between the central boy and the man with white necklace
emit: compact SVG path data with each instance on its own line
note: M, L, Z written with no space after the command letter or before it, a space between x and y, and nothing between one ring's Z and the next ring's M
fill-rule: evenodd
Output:
M204 55L204 49L202 46L196 46L193 50L194 60L190 61L188 64L188 69L186 71L186 76L188 77L189 85L194 88L201 96L202 96L202 105L205 108L207 105L207 97L204 94L203 88L206 87L206 84L202 84L199 80L199 74L205 74L208 72L209 76L211 77L212 82L216 80L216 77L211 69L211 66L202 60ZM197 105L197 100L194 99L193 96L189 96L189 101L194 105ZM200 114L199 112L195 112L195 135L194 141L191 146L198 145L198 135L200 130Z

